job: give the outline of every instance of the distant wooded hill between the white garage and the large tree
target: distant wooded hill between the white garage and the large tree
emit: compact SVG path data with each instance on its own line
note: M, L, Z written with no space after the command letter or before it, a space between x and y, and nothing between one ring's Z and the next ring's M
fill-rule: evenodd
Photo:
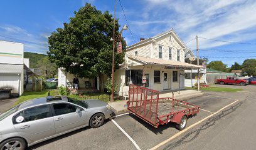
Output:
M29 68L37 68L36 64L45 56L46 54L24 52L24 58L29 58Z

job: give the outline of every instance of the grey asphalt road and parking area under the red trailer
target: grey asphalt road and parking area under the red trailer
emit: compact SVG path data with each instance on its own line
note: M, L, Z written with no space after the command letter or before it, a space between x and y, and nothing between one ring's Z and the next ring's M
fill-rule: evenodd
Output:
M79 129L29 149L255 149L256 86L228 87L244 90L206 92L189 99L189 103L198 104L203 110L188 119L187 130L182 132L174 124L156 129L133 114L124 114L100 128ZM176 138L163 143L173 136Z

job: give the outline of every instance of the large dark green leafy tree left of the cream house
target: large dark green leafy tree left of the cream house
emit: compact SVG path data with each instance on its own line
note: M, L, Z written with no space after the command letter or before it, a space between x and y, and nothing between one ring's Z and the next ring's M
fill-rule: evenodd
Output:
M102 13L91 4L85 4L75 17L70 18L64 27L56 29L48 38L48 56L59 68L80 78L100 77L103 90L103 74L112 73L112 41L114 19L108 11ZM115 22L115 35L119 24ZM123 49L125 42L122 40ZM117 54L115 47L115 69L124 61L124 53Z

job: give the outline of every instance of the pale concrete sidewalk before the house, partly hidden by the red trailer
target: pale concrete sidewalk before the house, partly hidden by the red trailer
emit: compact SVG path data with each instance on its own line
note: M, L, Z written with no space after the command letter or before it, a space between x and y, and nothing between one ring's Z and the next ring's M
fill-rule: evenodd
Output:
M183 90L180 92L174 92L174 98L179 100L186 100L186 99L202 96L203 94L204 93L202 93L201 91ZM171 93L170 91L164 91L159 94L159 98L168 98L168 97L172 98L173 93ZM128 111L126 103L127 101L117 101L117 102L109 103L109 105L111 106L114 113L117 115L117 114L125 113Z

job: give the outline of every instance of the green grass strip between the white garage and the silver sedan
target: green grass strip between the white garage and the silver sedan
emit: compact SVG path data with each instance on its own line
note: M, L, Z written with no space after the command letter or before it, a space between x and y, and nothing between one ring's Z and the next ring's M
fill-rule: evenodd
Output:
M58 95L58 91L51 90L50 96L56 96ZM41 91L41 92L33 92L33 91L24 91L22 96L19 97L18 101L14 103L14 106L16 106L19 103L23 103L24 101L27 101L29 99L35 99L35 98L42 98L48 96L48 91Z

